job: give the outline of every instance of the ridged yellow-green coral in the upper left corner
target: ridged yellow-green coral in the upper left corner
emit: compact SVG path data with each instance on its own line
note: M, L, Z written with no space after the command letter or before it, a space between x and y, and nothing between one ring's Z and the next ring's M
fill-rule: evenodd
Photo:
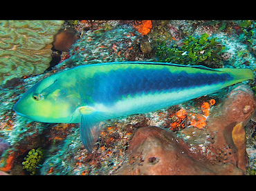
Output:
M0 21L0 84L40 74L51 61L53 36L64 21Z

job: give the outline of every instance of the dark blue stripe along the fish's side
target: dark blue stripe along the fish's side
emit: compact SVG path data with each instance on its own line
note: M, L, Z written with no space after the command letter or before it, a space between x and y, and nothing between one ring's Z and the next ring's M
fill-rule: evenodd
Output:
M108 73L98 72L93 77L93 92L89 93L92 100L105 105L113 105L122 97L135 94L166 92L193 88L195 86L206 86L214 83L223 83L233 78L226 73L194 73L188 74L185 71L172 73L167 68L162 70L154 69L131 69L111 70ZM87 86L92 86L88 81ZM88 92L87 92L88 94Z

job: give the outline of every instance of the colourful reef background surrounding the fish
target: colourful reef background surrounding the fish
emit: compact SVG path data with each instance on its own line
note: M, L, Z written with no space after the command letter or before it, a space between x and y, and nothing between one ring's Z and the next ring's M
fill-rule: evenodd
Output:
M93 152L78 123L12 110L35 83L76 66L156 61L255 73L255 48L253 20L0 21L0 174L255 174L255 79L103 121Z

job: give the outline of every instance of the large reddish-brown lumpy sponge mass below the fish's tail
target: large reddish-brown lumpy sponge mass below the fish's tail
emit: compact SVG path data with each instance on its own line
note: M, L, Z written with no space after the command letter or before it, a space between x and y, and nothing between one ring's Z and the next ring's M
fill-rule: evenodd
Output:
M161 128L139 128L128 162L116 174L245 174L244 126L255 112L255 95L247 86L237 86L219 105L206 128L181 131L191 137L185 141Z

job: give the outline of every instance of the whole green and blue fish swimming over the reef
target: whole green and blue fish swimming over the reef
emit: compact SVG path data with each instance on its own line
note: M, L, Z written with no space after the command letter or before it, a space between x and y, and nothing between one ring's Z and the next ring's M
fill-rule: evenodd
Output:
M30 88L13 109L44 123L80 123L82 143L91 152L100 121L143 114L254 79L250 69L123 61L64 70Z

